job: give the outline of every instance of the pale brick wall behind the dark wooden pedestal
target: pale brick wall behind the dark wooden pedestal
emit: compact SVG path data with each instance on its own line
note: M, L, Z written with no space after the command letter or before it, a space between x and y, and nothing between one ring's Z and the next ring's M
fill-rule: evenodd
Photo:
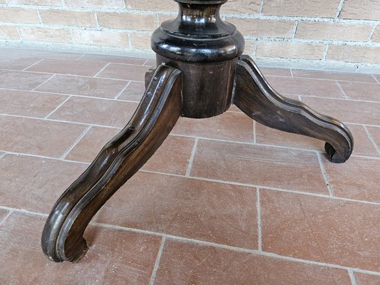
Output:
M0 44L150 51L172 0L0 0ZM380 64L379 0L230 0L223 19L262 61Z

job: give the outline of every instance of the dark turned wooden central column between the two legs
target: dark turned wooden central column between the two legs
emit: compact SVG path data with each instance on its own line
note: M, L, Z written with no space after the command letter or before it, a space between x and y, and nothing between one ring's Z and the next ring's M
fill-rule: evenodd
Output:
M175 0L177 18L165 21L151 39L157 63L183 73L182 115L208 118L224 113L232 103L236 62L245 48L242 34L220 19L227 0Z

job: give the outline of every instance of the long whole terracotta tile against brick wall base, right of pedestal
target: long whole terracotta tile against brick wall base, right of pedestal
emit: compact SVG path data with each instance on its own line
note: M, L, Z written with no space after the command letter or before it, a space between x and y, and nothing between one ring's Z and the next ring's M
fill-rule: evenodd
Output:
M307 71L301 69L293 69L293 76L298 78L319 78L333 81L357 81L376 83L371 74L360 73L341 73L332 71Z

